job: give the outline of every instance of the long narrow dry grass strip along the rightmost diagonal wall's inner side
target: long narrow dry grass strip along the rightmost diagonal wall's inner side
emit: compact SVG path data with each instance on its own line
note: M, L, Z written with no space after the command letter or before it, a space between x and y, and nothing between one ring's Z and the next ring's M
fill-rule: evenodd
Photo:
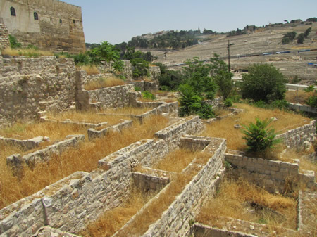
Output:
M210 156L210 154L198 153L197 162L199 164L206 164ZM157 198L152 199L151 203L144 208L141 213L137 214L129 226L118 232L118 236L142 236L149 228L149 225L156 222L170 204L173 203L175 196L182 193L186 184L192 180L200 169L201 166L191 165L185 172L178 174L175 179L159 193Z

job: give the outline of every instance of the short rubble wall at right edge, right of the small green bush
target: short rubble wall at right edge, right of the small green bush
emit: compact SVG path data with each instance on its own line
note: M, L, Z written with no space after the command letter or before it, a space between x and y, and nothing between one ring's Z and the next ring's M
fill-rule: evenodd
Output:
M316 121L313 120L309 124L302 127L291 129L283 134L276 136L282 138L285 146L289 148L306 148L308 143L312 143L315 139Z

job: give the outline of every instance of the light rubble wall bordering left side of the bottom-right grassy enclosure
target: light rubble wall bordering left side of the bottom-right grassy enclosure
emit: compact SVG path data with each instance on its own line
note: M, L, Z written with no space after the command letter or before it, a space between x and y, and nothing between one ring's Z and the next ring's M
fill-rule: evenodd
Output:
M163 212L161 219L149 226L142 236L190 236L191 220L199 213L199 207L204 203L207 196L213 195L223 177L223 160L225 157L225 139L211 140L213 155L201 168L185 189L176 196L174 202Z

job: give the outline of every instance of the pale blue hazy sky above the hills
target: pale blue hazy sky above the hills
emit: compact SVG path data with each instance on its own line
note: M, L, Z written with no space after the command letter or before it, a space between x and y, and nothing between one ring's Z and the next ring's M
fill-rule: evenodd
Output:
M63 0L82 7L85 41L118 44L161 30L227 32L317 17L316 0Z

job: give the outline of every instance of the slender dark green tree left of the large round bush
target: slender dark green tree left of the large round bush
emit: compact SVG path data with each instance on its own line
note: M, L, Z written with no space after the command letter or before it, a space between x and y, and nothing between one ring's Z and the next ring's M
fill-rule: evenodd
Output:
M228 72L228 65L225 64L223 60L219 59L218 54L214 54L211 61L211 77L215 80L218 91L221 96L223 96L223 100L230 95L232 91L233 83L232 83L232 73Z

